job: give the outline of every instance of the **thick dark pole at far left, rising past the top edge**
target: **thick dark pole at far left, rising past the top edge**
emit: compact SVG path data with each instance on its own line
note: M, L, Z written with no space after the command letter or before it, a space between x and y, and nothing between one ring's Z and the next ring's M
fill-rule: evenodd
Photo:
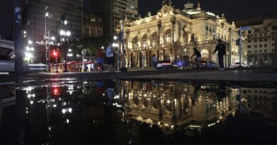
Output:
M14 62L14 72L16 82L21 81L23 76L23 30L21 23L21 1L14 0L14 52L15 52L15 62Z

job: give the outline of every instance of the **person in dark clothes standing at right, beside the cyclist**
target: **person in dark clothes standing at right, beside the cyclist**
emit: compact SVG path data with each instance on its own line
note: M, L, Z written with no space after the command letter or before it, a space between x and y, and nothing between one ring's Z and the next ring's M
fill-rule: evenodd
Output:
M222 40L218 40L218 45L215 47L214 53L217 52L218 62L219 62L219 71L224 70L224 55L226 54L226 45L222 43Z

